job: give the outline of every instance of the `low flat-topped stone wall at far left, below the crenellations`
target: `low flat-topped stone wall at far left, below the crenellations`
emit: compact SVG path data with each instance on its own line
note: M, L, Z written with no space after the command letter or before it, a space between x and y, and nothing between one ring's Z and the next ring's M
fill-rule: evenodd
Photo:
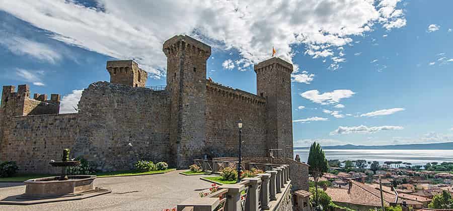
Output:
M77 134L78 114L11 117L4 125L0 160L16 161L19 172L57 173L50 160L61 159Z

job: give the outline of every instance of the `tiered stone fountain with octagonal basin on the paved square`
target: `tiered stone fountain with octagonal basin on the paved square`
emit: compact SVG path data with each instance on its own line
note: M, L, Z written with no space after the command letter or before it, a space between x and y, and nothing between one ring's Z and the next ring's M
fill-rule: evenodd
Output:
M79 166L80 161L69 160L69 149L63 150L61 161L49 163L61 168L60 176L29 179L25 181L25 193L11 196L0 204L35 204L64 200L78 200L110 193L111 190L94 187L95 175L67 175L66 168Z

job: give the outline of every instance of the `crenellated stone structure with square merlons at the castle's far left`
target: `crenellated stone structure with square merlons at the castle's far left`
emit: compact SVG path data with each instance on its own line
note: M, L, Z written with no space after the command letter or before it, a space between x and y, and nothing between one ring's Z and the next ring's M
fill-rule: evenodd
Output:
M30 87L27 84L19 85L17 92L15 86L4 86L2 91L2 109L6 109L10 116L58 114L60 111L60 94L33 95L30 98Z

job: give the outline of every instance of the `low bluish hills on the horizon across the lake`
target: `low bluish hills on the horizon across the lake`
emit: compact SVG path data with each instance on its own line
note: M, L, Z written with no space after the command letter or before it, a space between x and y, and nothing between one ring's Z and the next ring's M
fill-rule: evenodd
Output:
M382 145L382 146L363 146L363 145L339 145L322 146L323 149L392 149L392 150L453 150L453 142L435 144L401 144L401 145ZM294 149L310 149L310 147L294 147Z

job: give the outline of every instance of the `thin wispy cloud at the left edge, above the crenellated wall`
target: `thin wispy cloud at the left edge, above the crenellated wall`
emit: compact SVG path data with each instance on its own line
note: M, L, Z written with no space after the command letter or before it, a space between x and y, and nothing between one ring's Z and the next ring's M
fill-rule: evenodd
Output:
M5 33L0 34L2 34L0 35L0 45L7 47L16 55L29 55L50 63L55 63L55 61L61 59L59 53L44 43L38 43L22 37L10 37Z

